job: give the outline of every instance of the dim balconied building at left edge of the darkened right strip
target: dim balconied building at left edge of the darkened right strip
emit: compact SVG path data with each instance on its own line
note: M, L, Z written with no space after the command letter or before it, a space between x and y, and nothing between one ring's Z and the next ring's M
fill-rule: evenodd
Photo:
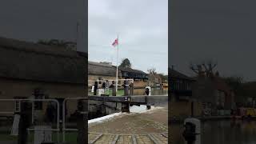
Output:
M170 113L172 119L202 114L201 102L192 97L193 78L169 68Z

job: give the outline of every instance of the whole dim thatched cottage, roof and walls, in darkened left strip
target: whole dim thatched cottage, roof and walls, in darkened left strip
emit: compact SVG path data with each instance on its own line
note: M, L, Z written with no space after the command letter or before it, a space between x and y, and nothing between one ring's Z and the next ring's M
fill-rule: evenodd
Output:
M0 38L0 99L86 97L87 54L62 47ZM0 110L18 111L18 102ZM68 110L76 106L68 105ZM43 111L45 104L37 105Z

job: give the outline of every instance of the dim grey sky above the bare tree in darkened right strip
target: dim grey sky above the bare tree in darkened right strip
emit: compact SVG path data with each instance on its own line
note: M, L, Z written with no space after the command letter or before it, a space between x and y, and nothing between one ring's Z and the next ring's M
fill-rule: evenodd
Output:
M169 66L213 59L222 76L256 81L256 1L175 0L170 7Z

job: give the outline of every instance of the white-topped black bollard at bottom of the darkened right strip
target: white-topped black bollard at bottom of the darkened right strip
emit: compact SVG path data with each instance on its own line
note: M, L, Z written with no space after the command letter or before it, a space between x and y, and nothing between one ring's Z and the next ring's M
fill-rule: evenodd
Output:
M186 118L184 121L185 130L183 137L185 144L201 144L201 126L200 120L197 118Z

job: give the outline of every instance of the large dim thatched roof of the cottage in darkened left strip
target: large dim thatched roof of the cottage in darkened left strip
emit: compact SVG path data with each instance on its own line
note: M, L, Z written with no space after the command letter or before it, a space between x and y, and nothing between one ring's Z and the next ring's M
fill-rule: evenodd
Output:
M0 37L0 77L84 84L87 54Z

